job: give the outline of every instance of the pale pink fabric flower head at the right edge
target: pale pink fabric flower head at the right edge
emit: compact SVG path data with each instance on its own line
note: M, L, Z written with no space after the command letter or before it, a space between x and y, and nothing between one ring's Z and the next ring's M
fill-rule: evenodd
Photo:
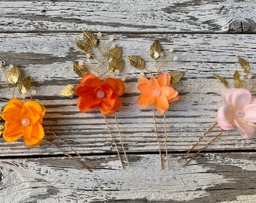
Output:
M250 139L256 132L256 98L248 89L227 89L221 95L223 105L218 109L218 125L230 130L236 126L242 138Z

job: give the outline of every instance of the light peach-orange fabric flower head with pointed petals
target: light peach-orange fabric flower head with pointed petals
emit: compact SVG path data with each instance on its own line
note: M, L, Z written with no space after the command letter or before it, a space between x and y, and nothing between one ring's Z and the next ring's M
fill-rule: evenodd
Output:
M137 103L146 108L148 105L154 105L158 114L163 114L169 108L169 102L178 100L178 92L169 86L171 75L162 73L159 77L139 77L138 89L142 92L137 98Z

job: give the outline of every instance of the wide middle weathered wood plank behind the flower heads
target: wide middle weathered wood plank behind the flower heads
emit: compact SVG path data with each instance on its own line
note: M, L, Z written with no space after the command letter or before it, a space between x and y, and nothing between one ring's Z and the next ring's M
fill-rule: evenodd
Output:
M143 37L144 36L144 37ZM252 74L255 73L255 35L114 35L115 42L123 46L123 56L137 54L146 59L147 67L153 67L148 56L148 47L154 39L160 39L163 48L175 47L178 62L172 62L165 71L180 70L184 79L176 85L181 94L180 102L175 102L166 112L169 129L168 149L170 151L187 150L197 138L206 132L216 120L216 111L221 105L220 94L224 87L212 73L229 78L233 71L239 70L236 55L248 59ZM83 59L84 54L75 48L75 39L81 34L2 34L0 41L0 59L16 63L24 74L30 74L34 81L38 98L47 108L44 126L69 141L81 153L114 152L114 146L108 135L105 120L98 111L81 114L76 107L75 98L59 95L62 87L68 83L79 83L72 71L72 62ZM140 71L124 68L126 74L126 92L123 95L123 107L117 112L124 144L129 152L157 151L154 138L153 111L136 105L139 91L136 88ZM121 75L120 75L121 77ZM214 88L213 88L214 87ZM4 93L2 92L2 96ZM157 118L163 133L163 119ZM109 119L114 136L117 127L113 118ZM213 138L214 133L209 135ZM203 143L204 144L204 143ZM254 149L255 140L239 139L236 130L225 135L209 147L209 150ZM23 156L29 154L59 153L47 144L28 148L23 141L7 144L2 139L1 156Z

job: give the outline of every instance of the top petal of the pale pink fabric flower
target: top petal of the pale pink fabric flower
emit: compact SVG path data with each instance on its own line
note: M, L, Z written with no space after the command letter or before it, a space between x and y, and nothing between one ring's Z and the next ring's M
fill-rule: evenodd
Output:
M236 110L242 110L245 105L251 103L251 92L248 89L236 89L231 100Z

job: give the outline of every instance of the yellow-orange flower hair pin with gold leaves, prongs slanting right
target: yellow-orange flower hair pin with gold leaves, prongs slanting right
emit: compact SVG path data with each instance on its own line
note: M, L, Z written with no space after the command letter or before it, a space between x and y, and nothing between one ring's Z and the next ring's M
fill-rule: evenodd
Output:
M0 135L2 135L4 140L13 142L23 138L25 144L29 147L36 147L45 141L47 144L60 150L64 155L74 159L88 171L91 171L91 169L84 164L84 162L86 162L91 167L94 167L90 161L84 159L84 157L74 150L72 146L66 141L63 141L59 135L56 135L42 125L45 114L44 105L33 99L33 96L36 95L35 90L31 90L29 98L27 98L27 94L31 87L31 77L24 77L20 80L20 68L18 68L17 65L9 65L10 70L7 71L5 62L2 62L0 68L5 76L5 80L0 81L1 85L5 87L2 87L0 91L2 91L3 95L5 95L5 92L11 94L11 99L0 98L2 102L7 102L6 105L2 106L0 120L0 122L5 122L4 125L0 125ZM79 161L74 156L66 153L66 151L54 144L53 141L45 138L45 132L54 135L55 138L66 144L72 152L78 155L84 162Z

